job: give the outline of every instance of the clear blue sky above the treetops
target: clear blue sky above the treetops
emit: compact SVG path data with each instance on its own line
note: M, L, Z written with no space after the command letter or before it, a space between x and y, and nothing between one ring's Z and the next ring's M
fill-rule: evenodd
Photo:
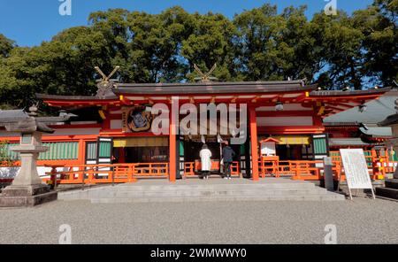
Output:
M325 0L71 0L72 16L58 13L60 0L0 0L0 34L16 41L19 46L39 45L68 27L87 25L88 14L110 8L125 8L149 13L162 12L180 5L188 12L220 12L229 18L235 13L278 4L279 11L289 5L308 6L307 16L324 9ZM363 9L372 0L337 0L337 7L348 13Z

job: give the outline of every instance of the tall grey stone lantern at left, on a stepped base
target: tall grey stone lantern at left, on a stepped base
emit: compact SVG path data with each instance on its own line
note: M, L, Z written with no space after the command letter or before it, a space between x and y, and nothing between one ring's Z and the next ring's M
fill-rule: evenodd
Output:
M0 111L0 126L7 131L20 133L20 144L11 150L19 152L20 170L11 186L0 195L0 206L34 206L57 199L57 192L42 183L37 173L37 158L41 152L49 150L42 146L42 133L54 133L45 122L58 122L69 116L37 118L37 107L29 112L22 110Z

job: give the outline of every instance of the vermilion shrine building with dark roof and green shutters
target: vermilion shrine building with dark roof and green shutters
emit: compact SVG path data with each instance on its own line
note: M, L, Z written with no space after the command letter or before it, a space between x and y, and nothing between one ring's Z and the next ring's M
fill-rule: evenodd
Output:
M323 119L378 99L389 90L325 91L318 90L316 85L305 85L304 81L110 82L99 86L96 96L37 94L45 104L77 115L68 122L51 126L56 130L53 135L43 135L42 142L50 150L40 157L40 173L50 172L51 166L58 171L69 168L69 174L73 175L61 181L65 183L81 182L79 177L83 181L98 182L100 177L104 182L110 181L110 173L113 173L112 181L120 182L140 177L175 181L195 176L200 166L201 135L150 132L157 116L151 115L148 108L163 103L171 109L172 97L178 96L180 105L247 104L248 139L241 145L232 145L236 152L234 175L255 181L267 173L300 178L298 166L304 165L307 167L302 174L319 178L319 171L315 174L313 171L318 168L319 160L330 154ZM180 114L180 119L183 117ZM169 120L170 128L175 127L176 119L170 117ZM10 147L19 143L17 134L0 130L0 136ZM231 135L204 135L213 153L214 173L219 173L220 136L223 140L231 138ZM274 143L273 152L262 155L265 148L260 142ZM96 170L103 168L108 176L98 176L96 172L84 178L83 173L88 173L93 166ZM81 172L72 172L76 170Z

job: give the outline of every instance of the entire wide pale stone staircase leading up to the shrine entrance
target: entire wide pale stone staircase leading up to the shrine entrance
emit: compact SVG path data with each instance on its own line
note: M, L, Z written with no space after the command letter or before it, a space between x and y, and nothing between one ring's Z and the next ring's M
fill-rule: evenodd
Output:
M93 204L197 202L197 201L337 201L345 196L328 192L305 181L265 179L258 182L188 179L139 181L117 186L60 192L60 200L90 200Z

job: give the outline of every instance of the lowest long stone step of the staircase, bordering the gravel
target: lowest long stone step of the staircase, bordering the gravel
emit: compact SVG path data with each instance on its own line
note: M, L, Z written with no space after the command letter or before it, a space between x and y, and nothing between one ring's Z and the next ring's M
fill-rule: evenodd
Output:
M92 198L92 204L122 203L183 203L214 201L343 201L345 196L326 194L322 196L189 196L189 197L107 197Z

